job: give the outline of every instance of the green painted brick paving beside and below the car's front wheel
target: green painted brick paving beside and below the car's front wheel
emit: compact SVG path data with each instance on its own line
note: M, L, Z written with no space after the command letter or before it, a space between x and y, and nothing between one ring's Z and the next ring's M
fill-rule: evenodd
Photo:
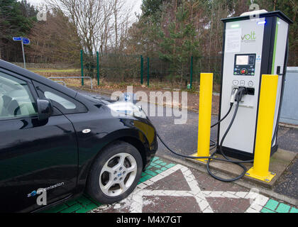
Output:
M176 164L167 163L159 157L154 157L150 165L140 177L138 184L145 182L156 175L174 167ZM101 206L101 204L94 201L87 194L80 196L78 199L67 201L63 204L54 206L53 208L42 211L42 213L87 213Z

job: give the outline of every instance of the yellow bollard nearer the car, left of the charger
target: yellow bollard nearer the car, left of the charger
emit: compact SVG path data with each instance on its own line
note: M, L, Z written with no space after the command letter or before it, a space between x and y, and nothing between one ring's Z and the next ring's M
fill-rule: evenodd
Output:
M213 73L202 73L199 88L198 157L210 156L210 128L212 111ZM198 159L207 162L206 159Z

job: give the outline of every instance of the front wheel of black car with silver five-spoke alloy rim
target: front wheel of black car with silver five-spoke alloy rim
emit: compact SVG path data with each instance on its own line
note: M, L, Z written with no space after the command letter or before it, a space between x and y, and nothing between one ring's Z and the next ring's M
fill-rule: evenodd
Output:
M116 142L96 157L87 181L87 193L101 204L125 199L136 188L143 160L133 145Z

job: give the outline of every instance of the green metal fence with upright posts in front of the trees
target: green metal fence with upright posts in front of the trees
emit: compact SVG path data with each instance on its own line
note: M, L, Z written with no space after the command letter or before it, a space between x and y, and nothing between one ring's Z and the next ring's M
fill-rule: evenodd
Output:
M219 84L221 56L189 57L172 63L160 57L142 55L104 54L88 55L81 51L82 76L109 82L179 84L190 88L199 85L202 72L213 72L214 83Z

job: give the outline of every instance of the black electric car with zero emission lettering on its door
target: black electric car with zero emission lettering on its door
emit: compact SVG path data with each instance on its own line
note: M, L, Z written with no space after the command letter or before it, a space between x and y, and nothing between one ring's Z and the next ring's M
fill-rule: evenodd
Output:
M101 204L131 194L158 143L143 111L126 104L0 60L0 212L40 211L84 192Z

